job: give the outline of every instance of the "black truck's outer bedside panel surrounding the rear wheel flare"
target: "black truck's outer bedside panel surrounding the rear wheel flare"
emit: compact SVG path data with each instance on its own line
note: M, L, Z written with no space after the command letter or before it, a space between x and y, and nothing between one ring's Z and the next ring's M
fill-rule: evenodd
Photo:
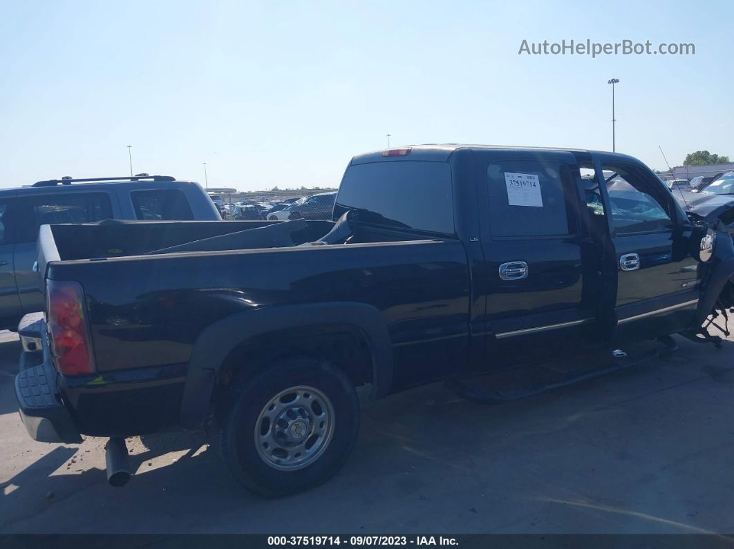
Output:
M49 277L84 287L100 372L186 363L204 328L229 314L329 301L381 312L396 386L449 375L466 357L469 276L458 240L69 261L51 264Z

